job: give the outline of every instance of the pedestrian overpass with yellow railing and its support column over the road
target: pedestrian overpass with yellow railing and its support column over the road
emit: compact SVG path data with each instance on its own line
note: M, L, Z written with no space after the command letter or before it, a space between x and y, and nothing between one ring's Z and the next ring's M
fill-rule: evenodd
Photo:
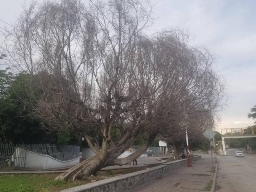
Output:
M223 154L226 155L225 138L252 138L256 137L256 127L221 129Z

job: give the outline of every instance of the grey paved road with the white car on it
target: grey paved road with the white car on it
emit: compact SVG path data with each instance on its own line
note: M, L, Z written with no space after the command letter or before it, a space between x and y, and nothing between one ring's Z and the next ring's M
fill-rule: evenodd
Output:
M227 150L226 153L227 156L217 156L219 164L215 191L256 191L256 155L236 157L236 150Z

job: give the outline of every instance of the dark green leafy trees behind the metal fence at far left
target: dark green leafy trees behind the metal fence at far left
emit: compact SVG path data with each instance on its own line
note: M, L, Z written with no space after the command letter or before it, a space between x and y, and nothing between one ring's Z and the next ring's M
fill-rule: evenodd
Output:
M28 74L13 76L6 70L0 71L0 142L12 144L78 144L78 135L70 131L48 130L40 119L28 115L29 106L23 100L28 99L26 80ZM35 90L35 91L38 91Z

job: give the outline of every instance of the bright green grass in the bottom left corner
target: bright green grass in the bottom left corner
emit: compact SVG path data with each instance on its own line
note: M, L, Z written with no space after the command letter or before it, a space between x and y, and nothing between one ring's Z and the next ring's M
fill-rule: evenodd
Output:
M83 184L54 180L56 175L0 176L0 192L55 192Z

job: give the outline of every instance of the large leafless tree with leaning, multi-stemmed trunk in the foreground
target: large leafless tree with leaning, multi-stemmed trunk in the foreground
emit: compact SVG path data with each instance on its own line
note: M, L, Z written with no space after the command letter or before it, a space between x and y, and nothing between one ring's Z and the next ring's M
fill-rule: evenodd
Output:
M51 128L76 130L96 153L56 179L75 181L130 163L158 134L179 128L185 114L222 109L225 82L214 69L214 56L189 46L179 28L146 36L152 22L149 2L61 0L32 3L8 31L2 49L9 65L30 73L25 91L31 98L24 102L32 115ZM114 126L120 129L116 142ZM101 148L91 131L102 134ZM117 158L141 133L146 142Z

